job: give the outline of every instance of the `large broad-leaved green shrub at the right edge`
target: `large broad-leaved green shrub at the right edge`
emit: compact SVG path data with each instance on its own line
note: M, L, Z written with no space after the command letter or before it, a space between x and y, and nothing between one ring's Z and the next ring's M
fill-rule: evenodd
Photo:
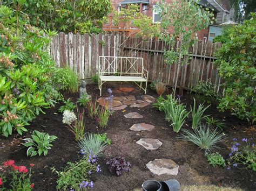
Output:
M218 49L215 64L224 80L220 111L231 110L240 119L256 119L256 19L255 13L244 24L233 26L230 41Z

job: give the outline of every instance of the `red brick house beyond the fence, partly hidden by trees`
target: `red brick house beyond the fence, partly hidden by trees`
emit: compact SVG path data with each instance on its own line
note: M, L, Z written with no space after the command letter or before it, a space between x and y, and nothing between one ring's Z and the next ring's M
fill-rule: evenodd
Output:
M171 0L167 0L171 1ZM114 10L119 10L122 7L125 7L127 4L136 3L140 6L140 12L143 14L152 17L153 22L160 22L160 16L154 8L157 6L157 2L160 0L111 0L112 6ZM217 21L214 25L210 25L207 29L199 31L198 39L207 41L208 38L212 39L215 36L221 34L221 27L216 26L221 23L224 23L228 20L233 19L233 9L230 6L230 0L200 0L199 4L204 8L213 9L214 17L217 18ZM136 32L135 28L125 28L124 25L114 25L112 22L113 14L109 15L109 22L103 26L104 31L126 31L126 32ZM218 29L218 34L214 33Z

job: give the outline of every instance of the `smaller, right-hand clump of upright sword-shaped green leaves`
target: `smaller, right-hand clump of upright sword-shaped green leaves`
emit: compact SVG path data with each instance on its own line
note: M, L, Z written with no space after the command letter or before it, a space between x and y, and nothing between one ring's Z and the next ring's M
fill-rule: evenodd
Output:
M207 116L204 116L204 112L208 107L210 107L210 105L204 108L203 104L199 104L196 110L196 99L194 98L193 109L190 105L190 110L192 114L192 129L196 129L198 126L200 126L201 120L207 117Z

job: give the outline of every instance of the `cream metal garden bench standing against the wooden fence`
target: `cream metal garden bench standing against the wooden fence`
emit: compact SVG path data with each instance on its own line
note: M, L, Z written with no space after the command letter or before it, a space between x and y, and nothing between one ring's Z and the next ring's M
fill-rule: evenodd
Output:
M134 82L146 94L148 74L149 72L143 66L143 58L99 56L98 86L100 96L102 96L102 85L106 81ZM143 88L142 82L146 82L145 88Z

